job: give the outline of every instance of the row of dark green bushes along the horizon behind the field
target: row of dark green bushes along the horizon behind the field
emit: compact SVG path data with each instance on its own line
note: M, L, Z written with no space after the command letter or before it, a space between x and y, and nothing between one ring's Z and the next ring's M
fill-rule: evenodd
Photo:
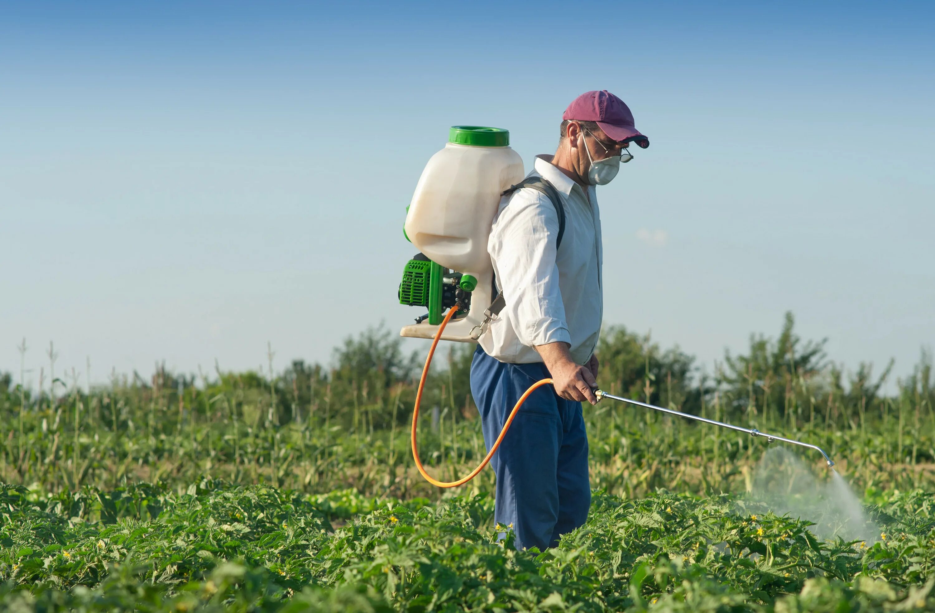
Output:
M677 345L662 348L650 335L611 325L602 331L597 345L598 384L608 392L692 414L715 406L717 415L726 420L856 423L900 402L912 405L918 419L935 415L930 351L923 349L913 373L895 381L895 392L886 395L892 360L878 374L868 363L848 370L828 360L826 344L827 339L802 339L795 332L793 315L786 313L779 335L751 335L744 352L726 351L723 361L709 372ZM467 344L439 349L424 406L441 406L456 420L473 419L476 409L469 387L473 350ZM364 424L381 429L394 419L408 418L423 364L424 349L407 354L401 338L381 324L348 336L334 349L331 364L294 360L280 373L270 367L267 372L216 369L199 375L173 373L159 365L148 378L136 372L114 375L109 385L94 388L84 406L108 421L108 417L120 419L115 408L118 397L124 402L178 406L180 420L187 414L197 419L199 414L223 412L221 405L228 409L259 405L266 407L265 421L274 425L328 412L336 423L348 427ZM13 411L36 410L87 395L77 381L69 386L52 378L48 387L42 387L22 389L13 374L0 372L0 405Z

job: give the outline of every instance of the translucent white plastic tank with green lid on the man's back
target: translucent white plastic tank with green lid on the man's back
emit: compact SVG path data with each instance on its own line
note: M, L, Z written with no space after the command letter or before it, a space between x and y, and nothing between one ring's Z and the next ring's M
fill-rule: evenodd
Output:
M491 270L487 238L500 193L524 177L509 131L453 126L416 185L407 237L433 262L480 279Z

